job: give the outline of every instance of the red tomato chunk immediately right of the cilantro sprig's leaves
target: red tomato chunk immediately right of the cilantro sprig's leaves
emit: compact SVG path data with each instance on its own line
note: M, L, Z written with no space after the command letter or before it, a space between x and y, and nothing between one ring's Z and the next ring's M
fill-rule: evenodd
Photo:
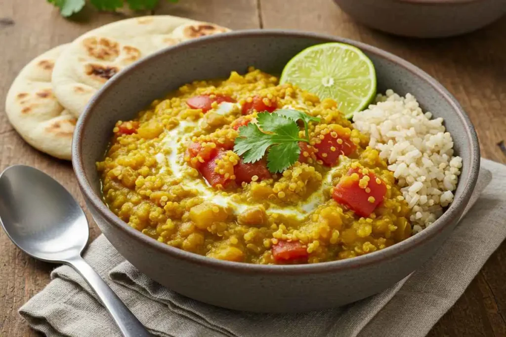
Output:
M349 136L338 134L332 137L332 132L324 135L321 142L316 143L314 147L318 150L316 157L327 166L337 164L339 156L349 156L357 148Z

